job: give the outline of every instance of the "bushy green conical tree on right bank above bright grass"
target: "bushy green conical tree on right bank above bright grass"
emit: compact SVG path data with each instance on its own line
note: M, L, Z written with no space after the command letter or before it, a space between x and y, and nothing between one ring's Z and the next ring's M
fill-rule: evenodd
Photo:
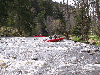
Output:
M72 33L75 36L87 35L90 28L90 18L87 17L86 12L83 12L83 7L79 9L75 15L75 26Z

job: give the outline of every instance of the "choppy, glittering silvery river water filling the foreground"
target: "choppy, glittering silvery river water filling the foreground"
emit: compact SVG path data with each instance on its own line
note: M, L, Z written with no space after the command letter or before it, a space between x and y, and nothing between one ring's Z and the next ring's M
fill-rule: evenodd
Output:
M0 75L100 75L100 47L48 37L2 37Z

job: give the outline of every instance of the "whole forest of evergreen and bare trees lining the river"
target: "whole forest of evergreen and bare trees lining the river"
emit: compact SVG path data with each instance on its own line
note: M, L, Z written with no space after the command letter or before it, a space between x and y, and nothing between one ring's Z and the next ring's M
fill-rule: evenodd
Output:
M99 44L99 0L92 4L96 4L96 16L89 14L88 0L76 2L75 6L52 0L0 0L0 35L31 37L57 34L67 39L73 36L73 40L83 42L92 38L96 40L95 44Z

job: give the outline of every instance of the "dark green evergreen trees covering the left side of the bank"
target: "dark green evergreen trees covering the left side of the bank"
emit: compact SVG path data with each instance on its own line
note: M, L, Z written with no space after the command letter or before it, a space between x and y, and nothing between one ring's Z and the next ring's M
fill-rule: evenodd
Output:
M63 19L59 3L54 3L55 5L53 3L52 0L0 0L0 25L14 27L19 33L23 30L25 34L33 35L37 23L40 23L42 33L47 35L45 25L47 16L54 18L56 15L56 18ZM55 14L53 6L56 7L55 10L57 9Z

